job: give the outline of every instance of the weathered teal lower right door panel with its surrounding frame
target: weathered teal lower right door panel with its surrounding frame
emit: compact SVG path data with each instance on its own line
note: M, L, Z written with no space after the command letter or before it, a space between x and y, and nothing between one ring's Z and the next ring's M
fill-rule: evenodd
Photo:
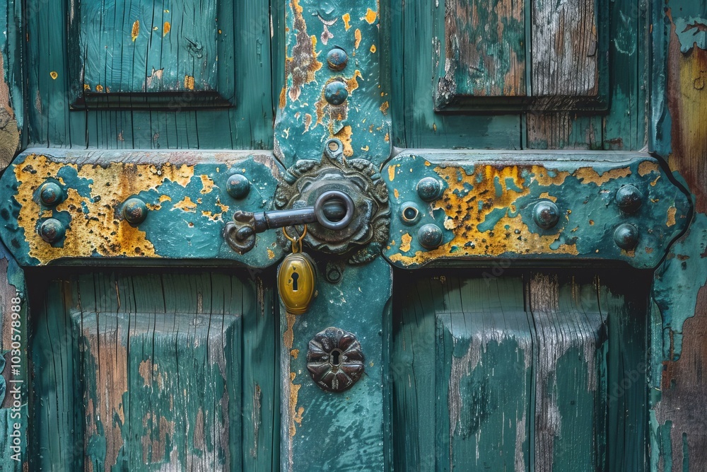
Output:
M648 277L504 267L396 278L395 466L643 470Z

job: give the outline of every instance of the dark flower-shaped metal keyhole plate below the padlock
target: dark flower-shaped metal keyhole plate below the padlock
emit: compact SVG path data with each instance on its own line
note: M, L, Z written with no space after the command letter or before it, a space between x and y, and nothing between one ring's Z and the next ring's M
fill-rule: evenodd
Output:
M327 328L309 343L307 370L324 391L342 392L363 374L363 351L356 335L340 328Z

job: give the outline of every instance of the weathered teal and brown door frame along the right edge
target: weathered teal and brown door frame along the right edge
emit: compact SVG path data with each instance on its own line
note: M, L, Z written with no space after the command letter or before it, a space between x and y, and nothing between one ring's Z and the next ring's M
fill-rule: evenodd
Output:
M707 30L704 1L653 10L651 147L679 173L695 214L655 274L650 465L701 471L707 463Z

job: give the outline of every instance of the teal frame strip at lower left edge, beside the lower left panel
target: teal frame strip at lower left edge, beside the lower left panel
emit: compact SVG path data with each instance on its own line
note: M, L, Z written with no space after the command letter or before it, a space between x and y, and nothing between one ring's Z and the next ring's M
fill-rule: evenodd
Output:
M22 471L27 461L27 287L25 276L0 243L0 470Z

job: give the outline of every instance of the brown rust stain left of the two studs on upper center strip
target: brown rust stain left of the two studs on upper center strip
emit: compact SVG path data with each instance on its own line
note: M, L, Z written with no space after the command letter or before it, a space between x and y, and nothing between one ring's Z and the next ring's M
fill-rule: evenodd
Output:
M322 69L322 63L317 60L317 37L312 35L310 38L307 34L307 23L299 0L291 0L290 6L295 16L294 28L297 34L296 43L292 48L292 57L288 57L285 67L286 75L292 77L289 96L292 101L295 101L300 97L302 86L315 79L315 73Z

